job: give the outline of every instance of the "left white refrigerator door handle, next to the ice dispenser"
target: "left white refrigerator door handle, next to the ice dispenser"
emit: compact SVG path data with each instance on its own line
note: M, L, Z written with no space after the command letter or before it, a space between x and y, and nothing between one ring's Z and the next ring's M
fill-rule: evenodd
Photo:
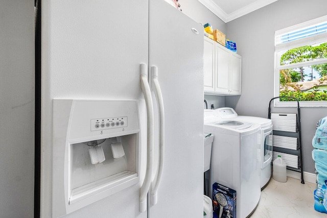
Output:
M147 193L152 179L153 168L153 103L150 85L148 83L147 64L140 64L141 88L144 94L147 108L147 169L141 190L139 193L139 210L144 212L147 209Z

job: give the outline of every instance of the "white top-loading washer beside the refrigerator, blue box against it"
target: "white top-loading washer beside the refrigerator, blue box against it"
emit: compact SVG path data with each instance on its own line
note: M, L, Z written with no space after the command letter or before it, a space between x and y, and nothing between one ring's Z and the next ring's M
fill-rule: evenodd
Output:
M260 125L221 119L217 111L204 110L204 132L215 135L208 173L209 196L213 197L215 182L232 188L237 195L237 217L250 215L261 195L256 155L260 149Z

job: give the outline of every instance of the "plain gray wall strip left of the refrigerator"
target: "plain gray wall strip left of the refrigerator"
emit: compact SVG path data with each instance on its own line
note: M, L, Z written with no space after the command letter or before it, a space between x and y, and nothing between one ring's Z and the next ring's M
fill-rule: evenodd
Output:
M34 0L0 6L0 216L33 217Z

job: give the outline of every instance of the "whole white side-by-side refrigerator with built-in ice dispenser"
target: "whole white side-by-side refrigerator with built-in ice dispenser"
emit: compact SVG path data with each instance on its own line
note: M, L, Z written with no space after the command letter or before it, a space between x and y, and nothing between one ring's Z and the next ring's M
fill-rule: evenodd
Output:
M49 0L42 1L41 15L40 217L202 217L203 27L164 0ZM144 106L142 89L146 88L141 85L142 74L146 75L151 92L147 107ZM158 96L152 80L154 74L161 88ZM58 100L59 104L56 103ZM69 192L72 186L72 183L65 184L65 175L75 172L74 166L68 162L78 152L72 154L73 147L69 147L61 174L56 168L59 158L56 132L61 129L56 125L57 116L65 116L60 110L58 112L57 105L71 102L71 106L65 109L73 116L72 105L76 109L79 102L99 101L101 105L115 100L135 101L139 106L140 128L133 132L135 141L139 142L133 152L139 159L135 161L135 167L131 167L138 179L126 187L122 185L118 191L99 189L97 195L102 196L98 199L91 193L80 198L83 199L81 204L76 200L80 206L67 209L71 207L69 197L61 192L67 189ZM158 109L160 102L164 107L164 117ZM152 107L151 118L149 109ZM86 111L93 113L98 109L88 105ZM83 113L83 110L79 112L80 117ZM91 117L91 125L104 116ZM151 130L149 122L152 120L154 126ZM66 126L71 128L67 138L83 133L80 129L72 130L78 126L72 122L67 118ZM128 122L131 124L131 119ZM159 128L160 124L164 126ZM102 134L92 128L92 134ZM164 134L161 139L159 132ZM91 136L89 139L95 138ZM151 140L153 150L148 144ZM159 140L164 147L160 147ZM80 142L78 139L73 141ZM102 147L105 154L111 152L105 145ZM124 149L128 159L130 152L126 147ZM159 150L163 155L159 155ZM152 153L149 155L149 152ZM85 155L84 166L95 171L106 163L91 165L91 155L81 154ZM79 157L75 156L72 160L78 162ZM164 158L160 159L160 156ZM65 164L68 164L67 168ZM110 164L108 166L109 170ZM159 176L157 169L160 169ZM105 168L102 172L106 173ZM160 182L156 185L157 177ZM146 180L150 181L149 185L144 185ZM97 182L92 183L92 190L97 189ZM144 186L150 186L149 190ZM145 205L140 204L141 189L148 192ZM58 206L61 202L57 195L68 203ZM91 199L89 203L87 199ZM61 209L63 212L59 211Z

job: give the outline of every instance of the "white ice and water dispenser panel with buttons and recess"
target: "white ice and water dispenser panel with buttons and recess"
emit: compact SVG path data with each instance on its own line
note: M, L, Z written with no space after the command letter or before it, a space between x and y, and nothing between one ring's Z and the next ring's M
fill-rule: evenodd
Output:
M136 100L53 101L53 216L139 182Z

